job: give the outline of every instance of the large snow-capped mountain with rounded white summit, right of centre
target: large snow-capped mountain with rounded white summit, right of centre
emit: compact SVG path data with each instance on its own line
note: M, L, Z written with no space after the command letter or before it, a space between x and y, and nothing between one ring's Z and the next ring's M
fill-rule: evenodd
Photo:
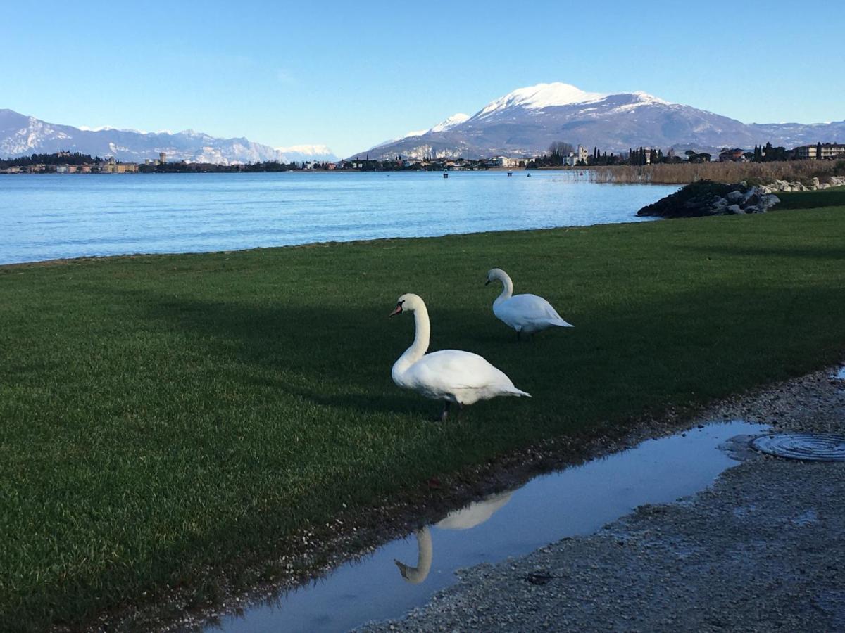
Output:
M745 124L645 92L607 95L555 83L516 89L461 122L383 143L369 154L474 159L542 154L555 141L619 152L641 146L701 150L843 140L845 122Z

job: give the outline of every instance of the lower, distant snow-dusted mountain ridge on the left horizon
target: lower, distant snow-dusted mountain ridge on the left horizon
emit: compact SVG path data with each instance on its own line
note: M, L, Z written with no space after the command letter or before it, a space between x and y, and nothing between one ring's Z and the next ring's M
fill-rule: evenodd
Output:
M158 158L194 163L232 165L263 160L337 160L325 145L295 145L271 148L246 138L215 138L185 130L145 133L138 130L95 129L57 125L24 116L12 110L0 110L0 157L14 158L29 154L51 154L60 149L92 156L113 156L117 160L143 162Z

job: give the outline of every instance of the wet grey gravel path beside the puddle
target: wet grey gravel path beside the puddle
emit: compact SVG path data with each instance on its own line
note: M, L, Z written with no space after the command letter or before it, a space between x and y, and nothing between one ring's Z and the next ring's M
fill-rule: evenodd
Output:
M845 433L845 381L832 373L702 420ZM709 490L462 570L425 607L365 630L845 630L845 463L739 453Z

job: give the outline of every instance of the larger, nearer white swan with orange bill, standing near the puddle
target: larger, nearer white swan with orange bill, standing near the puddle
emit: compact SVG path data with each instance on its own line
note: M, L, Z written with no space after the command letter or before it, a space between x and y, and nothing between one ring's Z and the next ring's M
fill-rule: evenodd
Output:
M443 400L441 421L449 416L451 403L456 403L460 412L464 404L496 396L531 398L531 394L514 387L504 372L478 354L457 349L441 349L426 354L431 324L425 302L418 295L401 295L390 316L395 317L402 312L414 313L416 334L411 347L394 363L390 376L399 387L412 389L432 400Z

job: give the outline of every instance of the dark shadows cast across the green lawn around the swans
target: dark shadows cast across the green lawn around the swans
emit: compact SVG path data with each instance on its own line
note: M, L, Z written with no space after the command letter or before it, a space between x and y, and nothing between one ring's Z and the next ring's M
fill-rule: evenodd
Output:
M803 249L701 249L752 256L772 251L795 257ZM835 260L842 252L807 251L804 257ZM232 380L352 412L350 424L368 424L367 414L433 417L437 403L395 387L390 378L391 366L412 342L411 317L389 319L390 305L308 301L292 306L285 297L259 302L147 294L139 304L145 317L165 331L187 334L190 345L202 349ZM568 314L576 323L573 329L540 333L521 344L487 305L429 306L430 349L482 354L535 397L523 406L497 399L485 407L491 421L526 422L534 416L559 427L590 411L618 416L626 401L638 411L661 408L679 397L723 395L744 372L749 372L743 380L747 384L791 375L796 367L803 371L810 365L809 359L789 360L807 359L805 345L815 344L815 363L819 357L831 359L842 329L837 306L838 288L805 288L796 279L760 287L747 280L726 284L713 279L698 289L679 285L659 300L646 300L634 289L616 304ZM794 327L796 322L803 327ZM830 335L820 341L813 330Z

